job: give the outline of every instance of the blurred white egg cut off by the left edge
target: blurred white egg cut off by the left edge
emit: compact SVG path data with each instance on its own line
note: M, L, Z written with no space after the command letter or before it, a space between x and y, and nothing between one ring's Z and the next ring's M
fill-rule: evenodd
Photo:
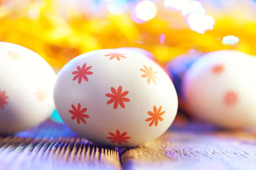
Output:
M15 133L43 122L54 109L56 74L35 52L0 42L0 133Z

